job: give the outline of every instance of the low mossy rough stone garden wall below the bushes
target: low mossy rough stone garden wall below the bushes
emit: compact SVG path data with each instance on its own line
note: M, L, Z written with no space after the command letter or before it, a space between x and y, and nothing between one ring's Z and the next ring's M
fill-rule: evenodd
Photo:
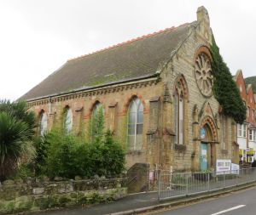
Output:
M127 194L126 178L55 181L38 178L0 184L0 214L114 201Z

